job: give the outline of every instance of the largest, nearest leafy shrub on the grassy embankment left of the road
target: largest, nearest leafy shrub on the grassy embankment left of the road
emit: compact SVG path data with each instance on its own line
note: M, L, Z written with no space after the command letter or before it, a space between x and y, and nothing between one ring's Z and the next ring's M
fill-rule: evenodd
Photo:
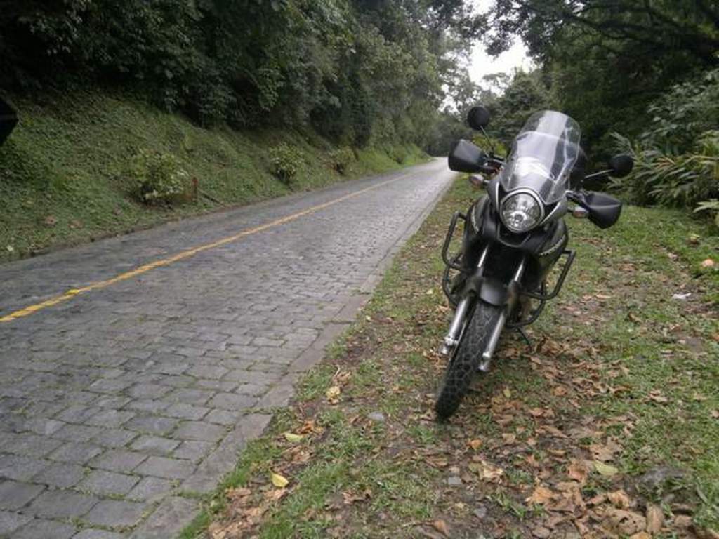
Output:
M169 153L141 149L130 162L129 176L134 198L150 205L180 202L190 187L190 175Z

